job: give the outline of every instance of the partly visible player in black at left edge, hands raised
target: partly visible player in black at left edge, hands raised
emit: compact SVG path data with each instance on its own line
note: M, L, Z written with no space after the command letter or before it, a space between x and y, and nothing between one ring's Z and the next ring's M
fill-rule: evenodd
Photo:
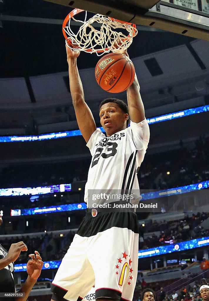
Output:
M0 226L2 225L2 216L0 215ZM16 244L11 244L9 251L5 250L0 244L0 292L1 293L15 293L14 285L14 261L20 255L20 252L27 251L27 246L20 241ZM27 263L28 277L22 285L18 293L25 293L24 297L3 297L0 296L0 301L25 301L30 294L37 278L41 274L43 261L38 251L35 254L29 255L31 259Z

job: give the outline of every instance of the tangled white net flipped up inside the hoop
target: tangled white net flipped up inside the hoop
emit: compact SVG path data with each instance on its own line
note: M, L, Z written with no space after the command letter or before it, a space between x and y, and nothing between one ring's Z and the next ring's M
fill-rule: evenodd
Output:
M74 33L70 28L70 20L68 25L66 24L66 26L63 27L71 43L78 45L80 47L79 50L82 51L89 53L96 52L99 56L104 52L115 52L116 47L117 50L127 49L131 45L133 37L137 34L136 27L130 23L121 23L120 21L100 14L94 15L89 20L86 20L86 18L87 12L84 21L77 20L75 17L70 18L70 20L82 23L77 33ZM96 23L100 25L95 25ZM96 29L94 25L96 28L98 27L98 29ZM120 29L120 31L118 29ZM66 45L74 49L67 41Z

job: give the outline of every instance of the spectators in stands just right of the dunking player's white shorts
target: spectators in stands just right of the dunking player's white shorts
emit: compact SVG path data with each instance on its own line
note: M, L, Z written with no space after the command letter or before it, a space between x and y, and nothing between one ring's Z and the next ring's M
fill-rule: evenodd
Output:
M165 244L176 243L179 241L185 241L194 239L197 237L209 236L209 230L204 229L201 223L209 217L209 213L197 213L192 214L192 217L186 216L183 220L176 221L159 221L154 220L150 224L144 224L140 226L139 247L140 249L146 249L156 247ZM152 232L149 236L145 233ZM160 235L156 235L160 231Z

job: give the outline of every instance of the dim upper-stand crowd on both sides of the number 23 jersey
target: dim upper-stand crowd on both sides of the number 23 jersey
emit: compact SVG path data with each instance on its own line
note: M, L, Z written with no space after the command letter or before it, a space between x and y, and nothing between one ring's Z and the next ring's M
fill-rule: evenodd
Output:
M2 168L1 188L48 186L86 181L90 157L73 162L26 164ZM209 179L209 138L200 136L195 147L146 155L138 180L142 189L167 189Z

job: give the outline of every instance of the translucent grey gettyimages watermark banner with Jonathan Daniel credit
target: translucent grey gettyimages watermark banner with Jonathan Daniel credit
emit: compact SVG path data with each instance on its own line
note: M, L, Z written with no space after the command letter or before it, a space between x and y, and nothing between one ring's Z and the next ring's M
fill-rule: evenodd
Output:
M173 188L159 190L88 190L88 211L121 211L147 213L165 212L208 212L206 205L209 189L191 190Z

